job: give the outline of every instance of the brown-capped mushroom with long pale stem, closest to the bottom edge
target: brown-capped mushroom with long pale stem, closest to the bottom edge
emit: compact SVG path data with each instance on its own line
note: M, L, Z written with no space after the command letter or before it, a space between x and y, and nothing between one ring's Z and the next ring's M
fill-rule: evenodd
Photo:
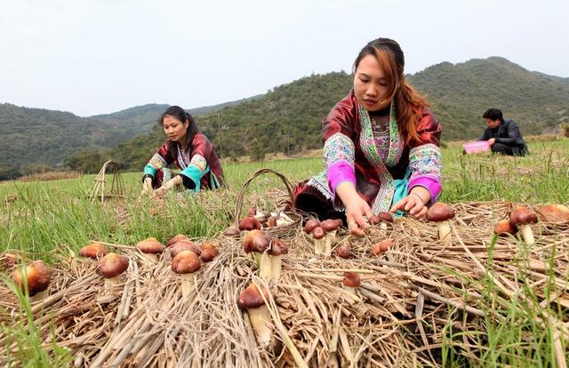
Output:
M263 289L263 294L265 300L270 298L267 289ZM257 334L257 340L261 348L268 347L273 338L271 317L265 300L263 300L260 290L255 284L247 286L237 299L237 307L245 309L249 315L252 329Z

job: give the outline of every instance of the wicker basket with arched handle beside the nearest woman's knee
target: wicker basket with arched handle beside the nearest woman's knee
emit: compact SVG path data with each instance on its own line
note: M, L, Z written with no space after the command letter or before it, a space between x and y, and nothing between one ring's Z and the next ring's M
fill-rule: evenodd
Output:
M273 173L278 178L283 180L284 187L286 188L286 191L288 192L288 195L291 199L291 211L286 211L284 213L289 218L291 218L293 220L293 223L288 224L288 225L271 227L271 228L263 228L263 230L266 231L268 233L268 235L271 237L284 238L287 236L293 236L296 233L296 231L301 227L301 222L302 222L301 212L296 210L296 208L294 207L294 203L295 203L296 198L294 197L294 194L293 194L293 186L291 185L291 182L288 179L286 179L286 177L282 173L276 172L276 171L271 170L271 169L260 169L256 172L253 172L251 177L244 182L243 187L241 188L241 190L239 191L239 195L237 196L234 225L236 227L238 227L239 220L241 220L241 212L243 209L243 200L244 200L244 195L245 195L245 192L247 190L247 187L249 187L249 184L251 184L252 180L254 180L255 178L257 178L261 175L267 174L267 173Z

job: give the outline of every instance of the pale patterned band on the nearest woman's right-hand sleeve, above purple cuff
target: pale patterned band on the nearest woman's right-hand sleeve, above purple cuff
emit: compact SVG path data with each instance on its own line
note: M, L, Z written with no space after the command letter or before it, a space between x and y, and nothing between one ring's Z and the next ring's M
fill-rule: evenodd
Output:
M423 144L409 151L410 180L426 177L440 183L441 168L441 151L436 145Z

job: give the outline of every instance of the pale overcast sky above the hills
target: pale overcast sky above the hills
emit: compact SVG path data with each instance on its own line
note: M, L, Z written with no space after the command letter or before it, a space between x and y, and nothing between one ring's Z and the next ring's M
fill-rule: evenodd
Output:
M377 37L405 72L501 56L569 76L569 0L0 0L0 103L197 108L349 72Z

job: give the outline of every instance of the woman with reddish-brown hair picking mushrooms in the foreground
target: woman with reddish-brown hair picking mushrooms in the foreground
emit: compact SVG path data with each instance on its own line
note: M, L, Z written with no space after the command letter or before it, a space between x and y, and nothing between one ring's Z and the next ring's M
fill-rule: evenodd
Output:
M441 191L441 126L405 80L397 42L378 38L354 62L354 88L323 122L325 172L295 188L296 206L361 231L372 213L422 219ZM399 212L399 213L401 213Z

